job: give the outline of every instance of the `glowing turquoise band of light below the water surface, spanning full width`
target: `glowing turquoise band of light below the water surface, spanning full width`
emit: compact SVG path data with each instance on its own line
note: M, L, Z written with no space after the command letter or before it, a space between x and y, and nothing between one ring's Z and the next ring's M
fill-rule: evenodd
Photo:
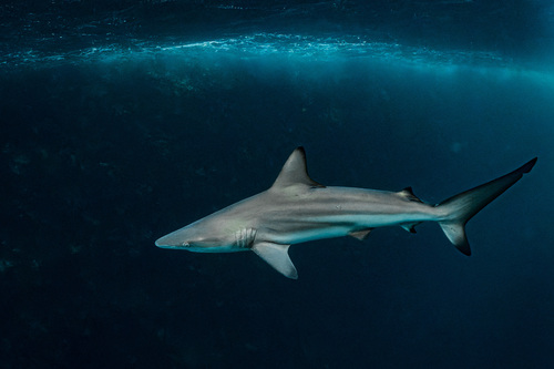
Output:
M187 42L176 38L155 41L132 39L125 40L125 45L120 42L85 49L73 48L64 52L19 50L0 55L0 65L4 71L9 71L12 68L43 69L64 64L86 65L160 60L167 62L171 59L179 63L202 63L214 60L220 62L258 60L268 63L358 60L442 75L471 71L472 73L493 73L503 79L532 78L543 85L554 88L552 71L520 65L495 52L416 48L397 42L376 42L360 35L314 37L254 33Z

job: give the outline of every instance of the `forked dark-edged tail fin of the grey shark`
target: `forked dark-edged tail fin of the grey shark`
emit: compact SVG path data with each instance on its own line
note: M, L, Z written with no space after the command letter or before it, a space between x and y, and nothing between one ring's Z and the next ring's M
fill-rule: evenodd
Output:
M468 221L520 181L523 174L531 172L535 163L536 157L512 173L465 191L437 205L442 211L441 214L444 215L442 221L439 221L439 225L450 242L460 252L468 256L471 255L470 244L465 237L465 224Z

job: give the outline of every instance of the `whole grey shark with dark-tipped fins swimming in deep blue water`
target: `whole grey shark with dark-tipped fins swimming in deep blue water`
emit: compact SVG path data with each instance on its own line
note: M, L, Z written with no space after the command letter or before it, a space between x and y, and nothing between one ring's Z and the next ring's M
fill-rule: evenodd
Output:
M156 240L162 248L196 253L253 250L285 277L298 274L290 245L352 236L366 239L373 228L401 226L416 233L422 222L437 222L448 239L471 255L465 224L479 211L531 172L536 157L517 170L437 205L400 192L324 186L308 175L306 153L297 147L273 186Z

